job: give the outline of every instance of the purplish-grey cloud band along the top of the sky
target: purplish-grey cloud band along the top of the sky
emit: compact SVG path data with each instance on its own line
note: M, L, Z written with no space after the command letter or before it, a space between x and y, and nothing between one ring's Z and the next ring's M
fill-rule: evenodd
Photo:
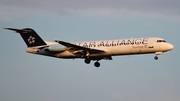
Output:
M1 12L28 13L33 9L68 14L156 14L180 16L179 0L1 0ZM12 11L12 12L11 12ZM34 11L34 12L36 12ZM125 14L125 13L123 13ZM127 14L127 13L126 13Z

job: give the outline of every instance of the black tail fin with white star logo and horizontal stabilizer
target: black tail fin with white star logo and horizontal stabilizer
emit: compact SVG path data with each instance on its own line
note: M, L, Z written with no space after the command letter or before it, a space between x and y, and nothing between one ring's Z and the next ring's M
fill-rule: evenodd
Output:
M21 37L23 38L23 40L25 41L28 47L47 45L33 29L30 28L24 28L24 29L4 28L4 29L13 30L17 33L20 33Z

